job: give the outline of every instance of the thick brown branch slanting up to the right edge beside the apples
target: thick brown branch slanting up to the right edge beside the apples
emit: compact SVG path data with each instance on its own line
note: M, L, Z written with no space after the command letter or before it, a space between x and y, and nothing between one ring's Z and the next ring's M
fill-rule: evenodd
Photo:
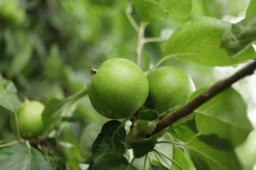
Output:
M175 121L181 119L182 117L185 117L189 115L190 113L193 113L193 110L207 102L209 99L220 93L221 91L225 90L238 80L242 79L243 77L247 75L252 75L256 69L256 61L252 62L251 64L245 66L240 71L236 72L234 75L228 77L227 79L224 79L222 81L217 82L211 88L209 88L207 91L193 99L191 102L185 104L180 109L174 110L173 113L164 119L157 122L155 131L151 133L150 135L154 135L157 132L160 132L161 130L167 128L168 126L172 125Z

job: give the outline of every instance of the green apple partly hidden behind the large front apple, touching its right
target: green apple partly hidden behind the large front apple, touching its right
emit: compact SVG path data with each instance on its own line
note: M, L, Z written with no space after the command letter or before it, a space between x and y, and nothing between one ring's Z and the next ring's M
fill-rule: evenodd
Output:
M148 74L149 94L147 103L158 113L176 105L184 105L195 91L191 77L180 68L162 66Z

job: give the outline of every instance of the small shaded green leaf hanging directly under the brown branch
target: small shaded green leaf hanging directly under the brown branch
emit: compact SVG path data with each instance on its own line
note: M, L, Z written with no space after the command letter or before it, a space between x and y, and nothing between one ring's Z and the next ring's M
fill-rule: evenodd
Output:
M198 133L195 126L194 114L190 114L172 124L169 133L184 143L191 141Z

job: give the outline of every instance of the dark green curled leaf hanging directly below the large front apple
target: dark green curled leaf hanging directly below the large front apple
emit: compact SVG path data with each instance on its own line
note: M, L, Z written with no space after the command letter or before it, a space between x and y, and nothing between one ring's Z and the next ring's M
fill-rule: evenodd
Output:
M107 152L124 154L126 130L117 120L108 121L92 144L92 157L96 159Z

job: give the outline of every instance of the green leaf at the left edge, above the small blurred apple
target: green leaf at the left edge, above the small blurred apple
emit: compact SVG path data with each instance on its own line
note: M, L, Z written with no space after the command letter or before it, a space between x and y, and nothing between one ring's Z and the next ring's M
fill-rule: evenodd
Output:
M0 79L0 105L16 113L20 108L17 89L11 80Z

